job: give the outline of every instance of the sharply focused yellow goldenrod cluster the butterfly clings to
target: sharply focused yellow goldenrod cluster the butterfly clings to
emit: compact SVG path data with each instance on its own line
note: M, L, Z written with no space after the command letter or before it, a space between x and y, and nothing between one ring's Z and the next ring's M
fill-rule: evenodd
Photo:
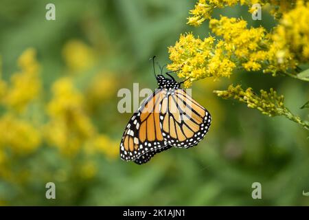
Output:
M211 19L209 27L222 40L209 36L204 40L193 34L181 34L174 47L169 47L168 69L180 70L179 77L190 78L190 82L205 77L229 77L233 69L241 64L248 71L261 69L261 63L268 57L262 47L268 45L264 28L247 29L242 19L221 17Z

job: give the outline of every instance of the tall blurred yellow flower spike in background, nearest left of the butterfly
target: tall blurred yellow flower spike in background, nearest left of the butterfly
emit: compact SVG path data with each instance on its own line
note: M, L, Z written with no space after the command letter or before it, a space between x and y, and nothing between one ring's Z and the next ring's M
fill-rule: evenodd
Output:
M53 98L47 104L50 121L45 126L47 140L62 153L75 155L95 133L91 119L85 112L84 97L69 77L60 78L52 86Z

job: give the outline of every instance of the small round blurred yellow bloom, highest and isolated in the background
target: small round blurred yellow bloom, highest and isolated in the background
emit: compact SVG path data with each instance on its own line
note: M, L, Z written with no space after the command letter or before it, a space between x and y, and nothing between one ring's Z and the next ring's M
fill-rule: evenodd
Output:
M78 40L71 40L66 43L62 50L62 56L67 67L73 73L92 67L95 57L93 49Z

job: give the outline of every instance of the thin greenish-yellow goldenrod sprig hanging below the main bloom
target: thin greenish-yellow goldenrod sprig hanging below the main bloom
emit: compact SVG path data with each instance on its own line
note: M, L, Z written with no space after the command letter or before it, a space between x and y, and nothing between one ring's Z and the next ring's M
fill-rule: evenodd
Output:
M283 115L289 120L293 120L301 126L304 126L305 129L309 130L309 123L302 121L297 115L293 115L285 106L284 106L284 96L279 96L277 92L271 88L269 92L260 90L260 96L255 94L255 92L249 87L246 90L242 89L240 85L234 87L229 85L229 88L224 91L214 91L217 96L221 98L233 98L240 102L247 104L247 107L258 109L264 115L270 117L276 115Z

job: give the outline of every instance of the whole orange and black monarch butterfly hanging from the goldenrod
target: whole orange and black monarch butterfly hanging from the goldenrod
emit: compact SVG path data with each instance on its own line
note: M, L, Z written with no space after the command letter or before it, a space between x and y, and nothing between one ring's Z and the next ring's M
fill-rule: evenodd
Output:
M159 88L146 98L128 122L120 157L125 161L145 164L151 157L172 146L190 148L200 142L211 124L210 113L191 98L181 83L155 73L155 56L152 58L154 74Z

